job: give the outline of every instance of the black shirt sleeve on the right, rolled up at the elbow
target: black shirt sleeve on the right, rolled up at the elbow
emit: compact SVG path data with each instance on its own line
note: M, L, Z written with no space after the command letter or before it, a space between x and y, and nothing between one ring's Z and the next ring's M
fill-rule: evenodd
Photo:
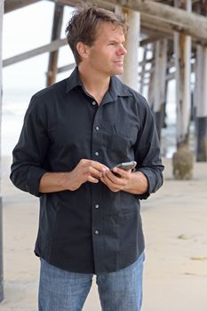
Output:
M141 171L147 177L147 193L137 195L139 199L147 199L149 195L155 193L163 185L163 163L160 156L160 144L155 127L154 116L147 104L147 100L142 98L141 109L139 111L140 128L137 142L134 148L135 159L138 163L137 171Z

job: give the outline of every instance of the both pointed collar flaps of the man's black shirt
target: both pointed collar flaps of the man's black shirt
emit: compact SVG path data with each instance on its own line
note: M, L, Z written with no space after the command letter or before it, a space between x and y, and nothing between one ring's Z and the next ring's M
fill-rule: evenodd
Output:
M84 89L84 84L80 79L78 68L76 67L67 79L67 92L70 92L78 85ZM130 92L130 88L123 84L117 76L111 76L110 85L105 94L104 102L117 100L118 96L128 97L132 96L132 93Z

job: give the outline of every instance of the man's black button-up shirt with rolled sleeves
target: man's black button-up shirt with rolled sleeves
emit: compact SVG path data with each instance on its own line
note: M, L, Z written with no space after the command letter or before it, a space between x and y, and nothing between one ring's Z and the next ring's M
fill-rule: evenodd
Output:
M148 180L144 195L113 193L101 181L76 191L39 193L47 171L72 171L81 159L112 168L136 160ZM77 68L68 79L37 92L13 150L11 179L40 196L36 255L78 273L117 271L144 250L139 199L163 183L155 122L147 101L112 76L100 106Z

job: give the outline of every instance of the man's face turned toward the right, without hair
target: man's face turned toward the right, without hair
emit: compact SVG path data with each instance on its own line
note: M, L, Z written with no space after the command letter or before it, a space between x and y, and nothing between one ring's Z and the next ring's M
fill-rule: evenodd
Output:
M113 76L123 73L124 35L120 26L103 22L97 31L94 44L89 47L88 62L97 73Z

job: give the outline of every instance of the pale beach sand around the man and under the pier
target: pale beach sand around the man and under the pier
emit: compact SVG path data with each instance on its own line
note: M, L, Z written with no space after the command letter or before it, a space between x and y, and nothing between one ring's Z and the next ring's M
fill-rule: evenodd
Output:
M37 311L39 259L33 250L38 199L12 186L10 163L9 157L3 157L4 301L0 310ZM173 180L171 160L163 163L163 187L141 202L146 238L142 311L206 311L207 163L195 163L194 179L189 181ZM84 311L100 311L95 279Z

